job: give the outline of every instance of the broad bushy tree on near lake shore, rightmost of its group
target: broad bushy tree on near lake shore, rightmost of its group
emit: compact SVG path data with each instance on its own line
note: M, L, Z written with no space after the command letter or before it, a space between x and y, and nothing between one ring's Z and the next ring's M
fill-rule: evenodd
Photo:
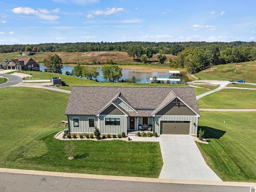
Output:
M122 68L118 65L104 65L102 66L102 74L104 79L115 82L122 77Z

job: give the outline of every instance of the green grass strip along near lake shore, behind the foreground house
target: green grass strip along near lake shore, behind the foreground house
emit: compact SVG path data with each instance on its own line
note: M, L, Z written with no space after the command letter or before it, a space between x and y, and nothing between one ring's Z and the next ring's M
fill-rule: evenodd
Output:
M24 73L24 72L21 72ZM27 73L27 72L26 72ZM52 77L60 77L63 82L67 86L59 86L60 89L64 90L71 90L72 86L138 86L138 87L180 87L180 86L187 86L184 84L162 84L162 83L119 83L119 82L96 82L93 80L88 80L84 78L74 77L74 76L67 76L62 74L55 74L55 73L48 73L48 72L38 72L33 71L32 78L28 78L26 80L51 80Z

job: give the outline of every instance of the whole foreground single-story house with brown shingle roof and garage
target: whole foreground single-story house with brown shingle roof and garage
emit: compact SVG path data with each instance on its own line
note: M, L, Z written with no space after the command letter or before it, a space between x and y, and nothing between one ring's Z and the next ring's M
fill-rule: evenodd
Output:
M157 134L197 135L200 112L190 87L73 86L65 114L70 133L118 134L153 125Z

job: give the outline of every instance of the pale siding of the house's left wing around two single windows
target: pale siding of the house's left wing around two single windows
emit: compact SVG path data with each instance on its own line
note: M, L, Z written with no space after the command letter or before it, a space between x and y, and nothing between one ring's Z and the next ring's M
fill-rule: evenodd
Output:
M79 118L79 127L74 127L73 118ZM94 115L69 115L68 124L70 133L94 133L94 128L89 127L88 118L94 118L94 126L98 127L98 117Z

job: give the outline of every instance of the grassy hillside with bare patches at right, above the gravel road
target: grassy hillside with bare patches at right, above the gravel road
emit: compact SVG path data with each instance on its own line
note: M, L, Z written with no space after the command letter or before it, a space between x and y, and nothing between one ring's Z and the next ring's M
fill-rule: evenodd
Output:
M256 82L256 61L244 62L236 65L234 63L226 65L212 66L196 74L204 80L245 80L246 82Z

